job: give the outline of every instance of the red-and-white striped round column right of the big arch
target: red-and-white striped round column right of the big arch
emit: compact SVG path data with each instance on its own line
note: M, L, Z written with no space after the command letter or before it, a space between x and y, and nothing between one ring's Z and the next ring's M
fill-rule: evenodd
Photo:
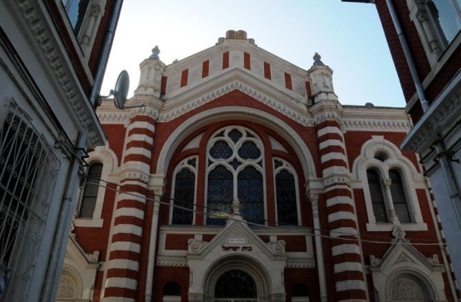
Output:
M325 183L336 297L338 301L366 301L360 245L356 240L357 217L340 124L331 120L318 123L317 137Z

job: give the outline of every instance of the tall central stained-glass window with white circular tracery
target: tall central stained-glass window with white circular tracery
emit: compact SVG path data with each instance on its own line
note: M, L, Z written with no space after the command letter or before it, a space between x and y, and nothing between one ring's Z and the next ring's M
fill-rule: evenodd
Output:
M265 221L263 143L240 126L215 132L207 143L207 224L224 225L235 199L252 223Z

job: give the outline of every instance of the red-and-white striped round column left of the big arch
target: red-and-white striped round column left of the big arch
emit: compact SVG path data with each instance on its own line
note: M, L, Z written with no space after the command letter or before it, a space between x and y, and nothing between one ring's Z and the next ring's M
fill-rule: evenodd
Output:
M121 167L121 192L116 197L104 301L132 302L136 299L154 125L152 117L135 116L127 129Z

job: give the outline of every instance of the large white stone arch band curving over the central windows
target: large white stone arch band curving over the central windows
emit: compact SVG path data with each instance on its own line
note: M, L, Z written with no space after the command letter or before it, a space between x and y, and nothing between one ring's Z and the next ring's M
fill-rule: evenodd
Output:
M283 135L291 147L294 148L296 155L300 159L306 179L316 177L314 159L309 152L309 148L307 148L303 139L293 128L285 123L285 121L272 114L268 114L262 110L240 106L227 106L206 110L194 115L194 117L187 119L184 123L179 125L163 145L158 157L156 174L164 175L166 173L167 165L170 162L174 150L176 150L179 143L181 143L187 135L209 123L222 121L223 117L229 117L229 114L232 114L232 119L241 119L260 123L261 125L265 125L265 127Z

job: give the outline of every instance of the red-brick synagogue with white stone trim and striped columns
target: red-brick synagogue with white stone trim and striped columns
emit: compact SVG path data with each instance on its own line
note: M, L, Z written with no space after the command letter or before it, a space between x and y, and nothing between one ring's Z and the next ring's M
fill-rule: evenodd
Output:
M402 108L229 30L103 101L59 301L455 301Z

